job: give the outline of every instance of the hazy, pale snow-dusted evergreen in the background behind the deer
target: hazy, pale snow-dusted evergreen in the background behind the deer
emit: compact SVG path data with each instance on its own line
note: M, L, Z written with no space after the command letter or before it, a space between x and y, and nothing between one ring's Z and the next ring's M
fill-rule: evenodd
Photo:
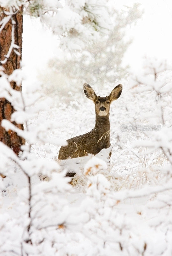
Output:
M67 88L65 91L70 88L72 92L80 92L85 79L87 83L98 84L101 88L106 83L113 86L128 75L127 67L121 65L123 55L131 43L131 40L126 39L126 31L141 17L142 10L139 4L130 8L125 6L123 10L116 9L114 3L109 3L108 7L112 16L112 29L108 35L86 45L82 52L67 52L63 57L57 55L40 71L39 77L46 93L58 98L61 91L64 92L64 87Z

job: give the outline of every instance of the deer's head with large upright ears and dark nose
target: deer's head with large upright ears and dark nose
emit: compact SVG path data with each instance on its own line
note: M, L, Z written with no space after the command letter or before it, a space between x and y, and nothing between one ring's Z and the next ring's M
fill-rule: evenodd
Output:
M99 116L107 116L109 114L110 105L113 100L117 100L122 92L122 84L118 84L106 97L97 96L91 86L87 83L83 84L83 90L87 98L95 104L95 110Z

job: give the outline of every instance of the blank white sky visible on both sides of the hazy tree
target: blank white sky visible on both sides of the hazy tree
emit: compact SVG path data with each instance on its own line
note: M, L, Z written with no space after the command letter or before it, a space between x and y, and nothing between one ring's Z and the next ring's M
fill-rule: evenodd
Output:
M114 0L115 6L131 6L137 1ZM172 64L172 0L138 0L144 9L135 27L128 28L127 36L133 43L125 53L123 63L133 70L142 67L142 57L167 59ZM29 46L29 47L28 47ZM24 17L23 64L27 72L36 72L58 53L58 44L50 31L45 31L36 20ZM59 54L59 53L58 53ZM39 67L38 67L39 63Z

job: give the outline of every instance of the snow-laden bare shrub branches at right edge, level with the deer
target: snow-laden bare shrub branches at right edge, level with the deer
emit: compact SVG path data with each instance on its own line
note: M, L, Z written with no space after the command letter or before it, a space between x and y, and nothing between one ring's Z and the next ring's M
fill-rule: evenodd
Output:
M165 61L146 59L144 73L131 79L131 86L135 93L151 93L154 96L156 108L149 116L142 115L147 125L152 125L147 138L137 141L135 146L146 146L150 150L161 149L165 158L172 164L172 127L171 127L171 66ZM157 125L158 124L158 125ZM159 126L159 130L158 130ZM160 132L157 132L160 131Z

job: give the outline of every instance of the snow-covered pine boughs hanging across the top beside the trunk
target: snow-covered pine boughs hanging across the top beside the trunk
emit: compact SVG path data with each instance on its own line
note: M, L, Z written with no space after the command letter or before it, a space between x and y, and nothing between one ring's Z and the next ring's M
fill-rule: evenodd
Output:
M1 0L0 6L10 17L23 7L26 13L39 17L41 22L61 36L61 47L68 51L82 50L101 36L108 34L112 21L106 0ZM1 23L7 23L5 17ZM11 18L11 17L10 17ZM70 40L68 40L70 38Z

